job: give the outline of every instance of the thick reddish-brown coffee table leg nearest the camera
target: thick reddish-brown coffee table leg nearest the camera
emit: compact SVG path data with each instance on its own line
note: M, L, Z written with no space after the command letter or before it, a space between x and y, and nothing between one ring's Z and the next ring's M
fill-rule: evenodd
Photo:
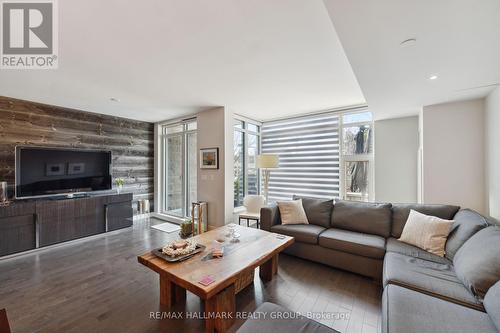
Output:
M235 286L232 284L205 301L207 333L224 333L229 330L236 312L235 291Z

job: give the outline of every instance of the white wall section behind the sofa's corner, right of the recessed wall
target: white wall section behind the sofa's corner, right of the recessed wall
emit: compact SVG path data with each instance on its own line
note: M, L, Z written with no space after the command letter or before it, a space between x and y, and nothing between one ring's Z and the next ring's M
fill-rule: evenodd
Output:
M424 106L422 199L486 213L484 100Z

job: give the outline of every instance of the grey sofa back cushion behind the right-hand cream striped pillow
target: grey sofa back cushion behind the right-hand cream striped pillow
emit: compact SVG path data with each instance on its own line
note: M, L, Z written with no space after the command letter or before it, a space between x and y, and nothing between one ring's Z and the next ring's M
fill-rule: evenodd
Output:
M393 204L392 205L392 237L399 238L410 215L410 210L419 213L452 220L460 207L451 205L418 205L418 204Z

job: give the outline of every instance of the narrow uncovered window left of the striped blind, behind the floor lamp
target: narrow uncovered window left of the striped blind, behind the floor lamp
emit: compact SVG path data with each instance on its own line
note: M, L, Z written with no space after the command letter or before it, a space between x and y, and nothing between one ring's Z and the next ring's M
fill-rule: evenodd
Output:
M234 207L243 198L260 193L260 172L255 166L260 154L260 125L236 119L234 122Z

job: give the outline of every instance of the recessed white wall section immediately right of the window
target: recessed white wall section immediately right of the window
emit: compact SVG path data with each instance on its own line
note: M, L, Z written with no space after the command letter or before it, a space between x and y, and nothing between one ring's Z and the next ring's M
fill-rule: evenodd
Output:
M375 121L375 200L417 202L418 116Z

